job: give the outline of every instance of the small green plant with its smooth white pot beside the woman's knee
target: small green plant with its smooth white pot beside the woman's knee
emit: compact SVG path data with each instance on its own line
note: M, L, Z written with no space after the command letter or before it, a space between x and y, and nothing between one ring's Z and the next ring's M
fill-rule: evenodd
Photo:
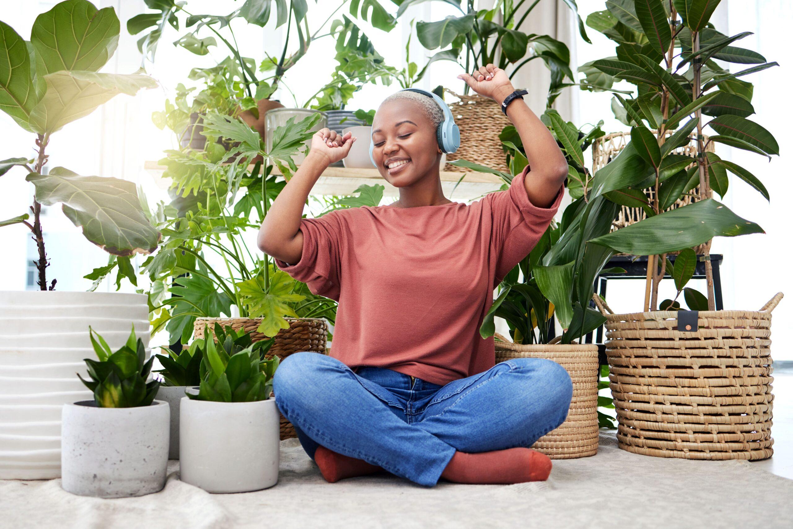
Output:
M278 482L279 413L270 398L278 356L262 361L249 336L234 336L216 324L204 341L198 392L182 397L180 479L209 493Z

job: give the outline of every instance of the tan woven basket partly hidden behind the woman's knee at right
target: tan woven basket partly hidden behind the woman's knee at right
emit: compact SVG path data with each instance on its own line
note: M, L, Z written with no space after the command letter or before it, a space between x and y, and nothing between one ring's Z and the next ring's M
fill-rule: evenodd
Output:
M496 363L511 358L546 358L567 370L573 379L573 399L567 419L555 430L537 439L531 447L551 459L585 458L597 454L596 345L522 345L496 332ZM500 340L500 341L499 341Z

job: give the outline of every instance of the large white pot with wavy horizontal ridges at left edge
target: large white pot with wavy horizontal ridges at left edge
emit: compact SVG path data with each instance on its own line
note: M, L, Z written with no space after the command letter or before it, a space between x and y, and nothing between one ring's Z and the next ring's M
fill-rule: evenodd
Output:
M148 357L144 294L0 292L0 479L60 477L60 408L92 397L88 326L115 350L133 323Z

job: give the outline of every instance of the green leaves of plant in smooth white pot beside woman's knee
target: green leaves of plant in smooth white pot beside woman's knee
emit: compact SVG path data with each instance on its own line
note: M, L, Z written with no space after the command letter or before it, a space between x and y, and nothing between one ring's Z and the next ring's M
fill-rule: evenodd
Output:
M213 336L214 335L214 336ZM217 342L215 342L217 339ZM275 339L251 343L251 336L215 324L207 328L204 358L201 360L201 385L198 393L187 393L197 401L265 401L273 391L273 375L279 358L262 359Z

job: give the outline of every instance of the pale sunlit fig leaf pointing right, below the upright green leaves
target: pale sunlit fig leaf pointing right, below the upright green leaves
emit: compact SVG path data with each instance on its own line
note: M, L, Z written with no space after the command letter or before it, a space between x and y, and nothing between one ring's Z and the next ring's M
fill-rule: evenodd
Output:
M157 86L148 75L93 71L58 71L44 75L44 80L47 92L30 113L30 125L39 133L56 132L118 94L135 95L141 88Z

